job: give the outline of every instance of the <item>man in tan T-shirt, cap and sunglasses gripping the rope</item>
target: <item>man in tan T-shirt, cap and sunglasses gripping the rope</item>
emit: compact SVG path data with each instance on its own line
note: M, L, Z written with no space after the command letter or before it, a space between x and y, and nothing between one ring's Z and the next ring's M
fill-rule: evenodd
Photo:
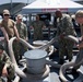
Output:
M20 36L15 27L14 21L10 19L10 11L7 9L3 10L3 20L1 21L0 28L5 37L5 50L9 55L9 50L8 50L9 39L16 36L19 40Z

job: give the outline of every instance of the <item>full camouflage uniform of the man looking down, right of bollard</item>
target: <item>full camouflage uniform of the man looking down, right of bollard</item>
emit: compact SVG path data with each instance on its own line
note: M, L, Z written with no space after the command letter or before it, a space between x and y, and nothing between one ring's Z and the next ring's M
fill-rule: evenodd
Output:
M68 14L62 14L61 19L57 19L58 27L57 27L57 36L64 36L64 35L75 35L75 31L73 28L71 19ZM74 43L67 38L58 38L59 40L59 58L63 60L63 56L66 51L68 54L69 61L72 59L72 48Z

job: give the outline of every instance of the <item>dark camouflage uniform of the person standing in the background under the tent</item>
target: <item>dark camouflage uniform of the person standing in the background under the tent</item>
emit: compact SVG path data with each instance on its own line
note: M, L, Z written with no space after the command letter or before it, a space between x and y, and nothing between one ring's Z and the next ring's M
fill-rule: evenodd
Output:
M34 27L34 40L43 39L43 21L35 21L32 23L32 26Z

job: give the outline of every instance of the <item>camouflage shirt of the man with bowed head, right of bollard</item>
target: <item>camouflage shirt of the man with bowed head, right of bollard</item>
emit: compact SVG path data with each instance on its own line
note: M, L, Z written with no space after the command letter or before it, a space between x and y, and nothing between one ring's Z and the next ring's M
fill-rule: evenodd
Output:
M61 35L63 33L66 35L76 35L71 17L68 14L62 14L62 17L58 19L57 22L57 35Z

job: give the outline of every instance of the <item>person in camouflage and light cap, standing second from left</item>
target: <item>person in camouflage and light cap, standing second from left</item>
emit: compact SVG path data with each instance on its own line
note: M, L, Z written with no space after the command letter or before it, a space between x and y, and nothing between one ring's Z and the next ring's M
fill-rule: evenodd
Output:
M27 42L28 40L27 27L23 23L22 19L23 19L23 15L22 14L17 14L15 25L16 25L16 28L17 28L17 32L19 32L20 37ZM22 43L17 43L16 46L17 46L17 50L19 51L15 52L15 54L17 56L20 56L19 57L20 59L22 59L22 56L27 50L27 48Z

